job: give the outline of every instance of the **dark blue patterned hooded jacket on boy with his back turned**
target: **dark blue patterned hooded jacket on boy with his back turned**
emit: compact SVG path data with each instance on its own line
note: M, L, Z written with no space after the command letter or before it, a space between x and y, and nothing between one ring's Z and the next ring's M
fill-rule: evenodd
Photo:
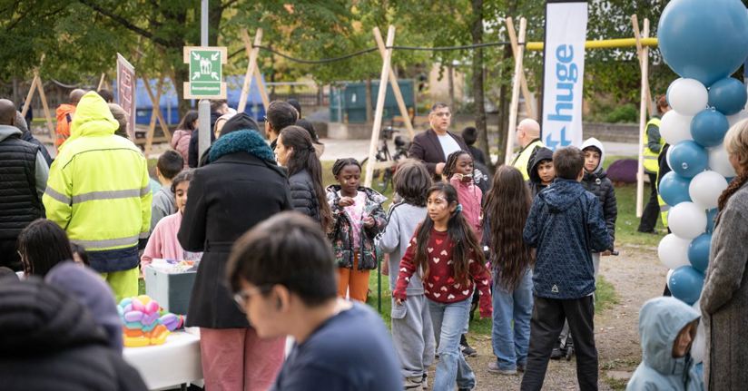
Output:
M600 202L578 181L556 178L533 200L523 238L536 248L533 291L540 298L584 298L595 291L590 251L611 246Z

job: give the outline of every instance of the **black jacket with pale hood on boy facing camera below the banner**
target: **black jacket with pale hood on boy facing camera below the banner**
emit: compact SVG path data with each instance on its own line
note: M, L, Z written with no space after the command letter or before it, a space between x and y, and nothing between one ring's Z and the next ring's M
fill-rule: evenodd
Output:
M600 201L600 206L603 208L605 227L610 234L610 238L612 239L611 242L613 242L615 241L615 219L618 217L615 189L613 188L613 182L607 178L607 173L603 170L603 161L605 161L603 143L593 137L582 143L582 150L589 147L595 147L600 151L600 162L597 164L597 169L595 169L595 171L585 171L585 177L582 179L582 186L585 187L586 191L595 194L597 200Z

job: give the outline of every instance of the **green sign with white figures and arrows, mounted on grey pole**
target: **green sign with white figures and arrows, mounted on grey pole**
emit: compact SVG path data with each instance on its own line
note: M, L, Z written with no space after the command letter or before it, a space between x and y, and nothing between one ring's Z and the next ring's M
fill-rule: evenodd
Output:
M185 84L184 97L225 98L223 65L226 62L225 47L185 47L184 62L190 64L190 82Z

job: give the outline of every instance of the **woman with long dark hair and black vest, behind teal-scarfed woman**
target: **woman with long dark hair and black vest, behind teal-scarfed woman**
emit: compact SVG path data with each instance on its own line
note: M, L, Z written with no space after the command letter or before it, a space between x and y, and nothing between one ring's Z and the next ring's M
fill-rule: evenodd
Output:
M278 163L289 170L293 209L320 222L326 232L330 227L330 206L322 187L322 164L309 132L300 126L286 127L278 136L275 154Z

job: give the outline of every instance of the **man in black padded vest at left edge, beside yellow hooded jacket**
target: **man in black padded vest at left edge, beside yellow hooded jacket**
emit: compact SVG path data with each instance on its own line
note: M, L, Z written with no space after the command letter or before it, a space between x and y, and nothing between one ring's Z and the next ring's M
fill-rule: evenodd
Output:
M44 217L42 194L49 167L38 145L21 139L15 104L0 99L0 266L22 270L15 241L21 230Z

